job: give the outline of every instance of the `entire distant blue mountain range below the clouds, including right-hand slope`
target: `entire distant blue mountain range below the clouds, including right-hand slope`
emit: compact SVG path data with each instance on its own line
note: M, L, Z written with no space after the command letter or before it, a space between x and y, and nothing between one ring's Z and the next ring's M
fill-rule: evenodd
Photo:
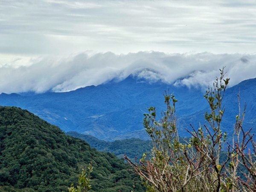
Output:
M207 102L198 88L177 87L161 81L148 81L131 75L98 86L88 86L64 93L0 94L0 105L27 109L64 131L90 134L101 140L137 137L146 139L143 113L155 106L157 113L165 109L163 93L169 90L176 105L180 137L189 134L189 123L198 127L205 123ZM223 129L232 133L238 114L237 93L241 104L247 103L245 127L256 125L256 79L249 79L227 89L224 99ZM253 132L255 132L253 130Z

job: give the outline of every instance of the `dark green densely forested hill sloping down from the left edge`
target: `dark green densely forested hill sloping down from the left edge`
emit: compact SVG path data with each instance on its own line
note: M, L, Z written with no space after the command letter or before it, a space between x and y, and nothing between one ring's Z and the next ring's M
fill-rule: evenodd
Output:
M144 191L123 160L65 135L29 111L0 107L0 191L67 191L88 163L92 192Z

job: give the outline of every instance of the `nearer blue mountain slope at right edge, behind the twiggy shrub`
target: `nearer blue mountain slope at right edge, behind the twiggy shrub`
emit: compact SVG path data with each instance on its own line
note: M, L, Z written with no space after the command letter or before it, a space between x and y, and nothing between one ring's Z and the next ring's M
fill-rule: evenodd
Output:
M241 114L243 113L244 105L246 105L243 128L245 131L252 128L251 133L256 133L256 130L254 129L256 127L256 79L248 79L228 88L224 95L223 106L225 111L221 125L222 130L227 132L228 140L231 140L234 124L236 122L236 115L239 114L238 94L241 97ZM206 111L209 111L209 107L205 107L204 109L189 115L183 115L180 118L180 124L183 127L188 128L190 127L189 123L195 127L198 127L199 122L203 125L205 123L204 113Z

